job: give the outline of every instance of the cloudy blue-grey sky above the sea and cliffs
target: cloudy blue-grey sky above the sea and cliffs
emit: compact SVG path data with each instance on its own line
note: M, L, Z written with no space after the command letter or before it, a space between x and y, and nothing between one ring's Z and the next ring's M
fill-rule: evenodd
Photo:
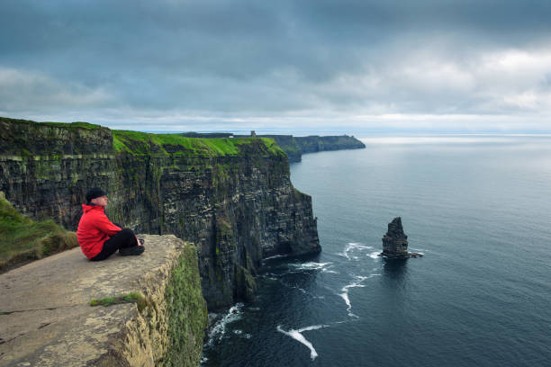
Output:
M551 132L549 0L2 0L0 116Z

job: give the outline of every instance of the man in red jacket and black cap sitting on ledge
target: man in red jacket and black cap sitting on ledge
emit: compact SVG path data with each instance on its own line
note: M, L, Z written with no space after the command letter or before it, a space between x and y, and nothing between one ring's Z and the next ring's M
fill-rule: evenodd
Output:
M120 255L141 255L144 251L140 240L129 228L115 226L107 218L104 208L107 194L98 188L86 192L86 204L82 204L82 218L78 222L78 245L91 261L105 260L119 250Z

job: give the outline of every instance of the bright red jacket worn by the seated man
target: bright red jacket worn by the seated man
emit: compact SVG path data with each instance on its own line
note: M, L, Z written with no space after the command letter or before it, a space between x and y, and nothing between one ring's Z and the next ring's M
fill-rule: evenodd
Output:
M77 229L78 245L84 255L91 259L102 252L104 242L119 233L121 228L107 219L104 207L82 204L82 210L84 213Z

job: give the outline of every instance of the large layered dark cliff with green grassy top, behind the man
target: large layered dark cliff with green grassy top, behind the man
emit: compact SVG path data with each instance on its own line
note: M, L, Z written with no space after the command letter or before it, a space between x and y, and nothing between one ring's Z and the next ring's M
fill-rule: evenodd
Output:
M294 189L271 139L11 119L0 119L0 129L0 191L18 210L75 229L86 190L107 189L113 221L197 246L209 309L252 297L262 258L321 251L312 199Z

